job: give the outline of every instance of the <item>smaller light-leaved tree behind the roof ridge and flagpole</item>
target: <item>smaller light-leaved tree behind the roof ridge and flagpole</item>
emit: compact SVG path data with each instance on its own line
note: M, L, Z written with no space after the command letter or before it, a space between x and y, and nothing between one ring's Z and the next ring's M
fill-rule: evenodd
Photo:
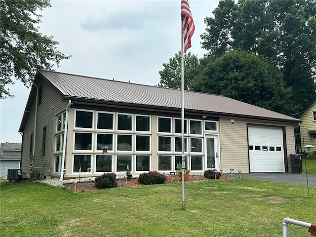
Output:
M184 89L190 90L192 80L198 72L198 58L191 53L184 54ZM169 63L163 63L164 69L159 71L158 86L181 89L181 51L175 53Z

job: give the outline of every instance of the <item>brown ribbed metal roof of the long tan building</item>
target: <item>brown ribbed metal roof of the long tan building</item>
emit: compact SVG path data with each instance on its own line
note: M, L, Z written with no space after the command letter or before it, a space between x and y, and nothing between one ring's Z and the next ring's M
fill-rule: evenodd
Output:
M177 89L52 71L38 71L37 76L39 75L55 86L64 95L64 99L98 103L116 102L177 111L181 109L181 90ZM185 91L184 102L185 110L192 112L287 122L300 121L221 95Z

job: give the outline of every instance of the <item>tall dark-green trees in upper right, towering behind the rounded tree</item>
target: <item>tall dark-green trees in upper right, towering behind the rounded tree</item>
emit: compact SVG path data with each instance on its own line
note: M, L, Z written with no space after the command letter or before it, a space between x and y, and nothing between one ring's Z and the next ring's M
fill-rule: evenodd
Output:
M316 99L316 0L224 0L213 13L201 35L209 55L242 49L273 60L293 89L293 112Z

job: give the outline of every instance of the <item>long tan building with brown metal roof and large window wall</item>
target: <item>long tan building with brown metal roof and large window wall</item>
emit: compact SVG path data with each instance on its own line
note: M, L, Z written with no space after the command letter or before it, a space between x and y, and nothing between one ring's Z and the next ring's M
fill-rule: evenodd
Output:
M184 100L192 174L291 172L299 119L220 95L185 91ZM124 175L128 164L135 175L168 174L181 161L181 127L181 90L38 71L19 129L22 175L30 154L48 163L46 178Z

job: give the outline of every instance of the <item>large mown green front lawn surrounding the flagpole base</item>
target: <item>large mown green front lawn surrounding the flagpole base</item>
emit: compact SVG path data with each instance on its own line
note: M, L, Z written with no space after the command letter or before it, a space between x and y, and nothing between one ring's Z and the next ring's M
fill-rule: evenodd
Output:
M316 223L316 187L246 178L73 192L0 182L1 237L280 237L285 217ZM289 224L288 237L310 237Z

